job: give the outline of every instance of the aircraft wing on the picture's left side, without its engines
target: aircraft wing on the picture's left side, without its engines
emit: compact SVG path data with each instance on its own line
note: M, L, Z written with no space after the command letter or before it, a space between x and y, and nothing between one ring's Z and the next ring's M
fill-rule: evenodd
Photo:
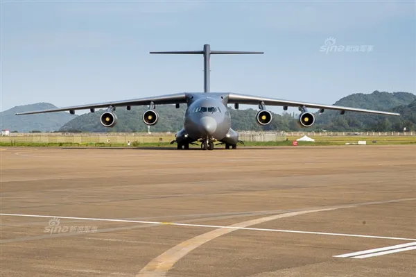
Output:
M73 110L86 110L86 109L95 109L95 108L109 108L110 106L112 107L145 106L145 105L150 105L151 102L155 103L155 105L187 103L187 94L183 92L183 93L177 93L177 94L166 94L166 95L161 95L161 96L146 97L146 98L139 98L139 99L94 103L94 104L71 106L71 107L64 107L64 108L53 108L53 109L48 109L48 110L17 112L16 115L31 115L31 114L43 113L43 112L62 112L66 110L73 111Z

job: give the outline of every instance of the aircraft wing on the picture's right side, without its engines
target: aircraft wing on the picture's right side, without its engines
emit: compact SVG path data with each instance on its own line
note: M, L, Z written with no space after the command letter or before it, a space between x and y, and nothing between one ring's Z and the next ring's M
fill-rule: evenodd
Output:
M281 99L272 99L267 97L259 97L259 96L252 96L252 95L245 95L245 94L236 94L236 93L229 93L228 96L228 103L239 103L239 104L246 104L246 105L259 105L261 102L264 105L270 106L283 106L283 107L305 107L305 108L315 108L322 110L340 110L341 112L351 111L351 112L367 112L379 115L400 115L399 113L395 112L383 112L380 110L365 110L360 108L349 108L343 106L333 106L333 105L325 105L325 104L316 104L316 103L307 103L307 102L300 102L300 101L290 101L290 100L281 100Z

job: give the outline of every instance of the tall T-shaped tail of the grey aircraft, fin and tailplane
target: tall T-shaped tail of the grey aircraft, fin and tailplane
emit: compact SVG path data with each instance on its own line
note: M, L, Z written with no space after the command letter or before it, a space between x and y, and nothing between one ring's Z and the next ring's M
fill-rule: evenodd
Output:
M150 54L202 54L204 55L204 92L209 92L209 58L212 54L263 54L264 52L252 52L252 51L211 51L209 44L204 44L202 51L164 51L164 52L149 52Z

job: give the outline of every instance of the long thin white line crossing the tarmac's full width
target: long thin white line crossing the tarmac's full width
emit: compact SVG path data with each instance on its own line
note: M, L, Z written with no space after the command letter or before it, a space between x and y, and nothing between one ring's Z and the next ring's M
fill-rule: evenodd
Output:
M171 225L171 226L187 226L187 227L200 227L200 228L224 228L224 229L236 229L236 230L257 230L263 232L278 232L278 233L298 233L298 234L309 234L309 235L335 235L340 237L366 237L372 239L383 239L383 240L408 240L415 241L416 239L406 237L381 237L376 235L354 235L354 234L342 234L342 233L324 233L324 232L309 232L301 230L280 230L280 229L268 229L268 228L250 228L250 227L239 227L239 226L216 226L216 225L204 225L204 224L185 224L175 222L157 222L157 221L140 221L140 220L128 220L128 219L100 219L90 217L59 217L56 215L20 215L20 214L0 214L1 216L9 217L44 217L44 218L60 218L60 219L80 219L90 221L110 221L110 222L125 222L125 223L141 223L141 224L156 224L156 225Z

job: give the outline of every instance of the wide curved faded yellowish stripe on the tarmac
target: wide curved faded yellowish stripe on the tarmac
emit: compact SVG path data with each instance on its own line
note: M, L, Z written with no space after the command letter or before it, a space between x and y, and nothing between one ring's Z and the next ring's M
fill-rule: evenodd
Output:
M295 217L296 215L304 215L311 212L322 212L327 210L336 210L337 208L327 208L327 209L319 209L319 210L304 210L300 212L288 212L285 214L279 215L272 215L270 217L261 217L259 219L252 219L248 221L243 221L237 224L231 225L232 227L248 227L256 224L261 224L267 221L272 221L275 219L281 219L284 217ZM182 242L181 244L177 244L177 246L173 246L168 251L162 253L157 258L151 260L146 267L141 269L139 276L166 276L169 269L175 265L177 261L181 258L184 258L189 252L193 251L194 249L198 248L202 244L214 240L216 237L220 237L221 235L226 235L228 233L234 232L238 229L227 229L227 228L218 228L216 230L211 230L208 233L198 235L197 237L193 237L187 241Z

